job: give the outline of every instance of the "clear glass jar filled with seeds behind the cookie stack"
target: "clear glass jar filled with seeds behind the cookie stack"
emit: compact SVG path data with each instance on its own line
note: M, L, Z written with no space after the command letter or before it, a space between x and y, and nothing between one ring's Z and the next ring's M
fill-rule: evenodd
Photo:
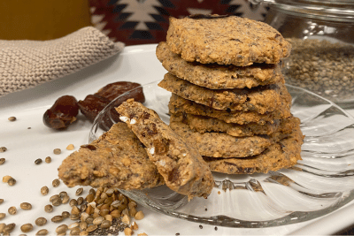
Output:
M354 0L263 2L270 8L266 23L292 43L286 82L354 107Z

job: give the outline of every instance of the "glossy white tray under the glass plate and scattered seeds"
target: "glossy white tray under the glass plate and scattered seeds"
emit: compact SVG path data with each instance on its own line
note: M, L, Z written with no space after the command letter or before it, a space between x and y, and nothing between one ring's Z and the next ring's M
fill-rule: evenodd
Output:
M111 57L89 68L68 75L65 78L54 80L10 95L0 97L0 147L4 146L8 150L0 153L0 157L6 158L6 163L0 166L0 177L11 175L17 179L17 184L13 187L1 183L0 198L4 203L0 205L0 212L7 213L7 209L16 206L18 213L15 216L7 216L0 223L16 223L13 234L20 234L19 226L35 222L37 217L50 217L60 214L63 210L70 211L68 204L55 208L52 213L45 213L43 208L49 204L49 197L66 191L74 196L77 187L67 188L63 183L57 188L51 187L51 181L58 178L57 168L61 161L72 151L65 147L68 144L75 146L77 150L81 144L88 142L89 128L91 124L88 120L80 119L67 130L58 132L50 130L42 124L42 114L49 109L52 103L61 95L74 95L78 100L83 99L90 93L95 93L98 88L113 81L128 80L146 84L154 80L162 80L165 69L160 65L156 57L150 55L155 51L156 45L126 47L119 56ZM133 54L139 57L130 57ZM149 66L147 66L149 61ZM354 115L354 110L348 110ZM10 122L7 118L17 117L17 121ZM31 127L31 129L27 129ZM54 155L52 150L61 148L60 155ZM52 163L42 163L35 165L36 158L52 157ZM42 196L40 189L42 186L50 187L50 194ZM83 195L88 194L89 187L85 188ZM33 209L25 211L19 209L20 202L30 202ZM342 227L354 223L354 205L345 206L325 217L314 219L308 222L261 229L227 228L218 227L214 230L213 225L203 225L188 222L182 219L165 216L155 213L150 209L143 209L145 217L138 221L139 232L148 235L285 235L289 233L300 234L328 234L336 232ZM342 212L341 212L342 211ZM336 215L335 215L336 214ZM331 222L332 224L328 224ZM70 220L65 220L63 224L70 224ZM315 227L309 226L315 223ZM35 234L42 228L47 228L51 234L55 233L58 225L48 223L45 227L35 226L35 229L27 235ZM119 235L124 235L123 232Z

